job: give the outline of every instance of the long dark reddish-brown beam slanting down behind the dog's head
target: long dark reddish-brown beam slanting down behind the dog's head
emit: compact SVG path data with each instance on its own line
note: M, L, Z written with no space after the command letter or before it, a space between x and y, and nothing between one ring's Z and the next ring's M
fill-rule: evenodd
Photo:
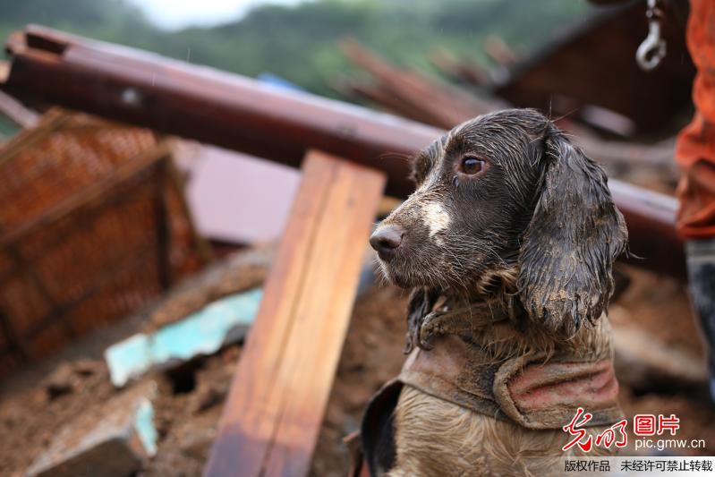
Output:
M276 89L126 47L29 26L7 43L12 58L0 82L34 98L148 126L299 166L321 149L387 174L387 193L412 192L405 156L443 131L310 94ZM676 201L611 180L626 215L632 251L645 268L685 277L675 228ZM653 200L658 197L658 200Z

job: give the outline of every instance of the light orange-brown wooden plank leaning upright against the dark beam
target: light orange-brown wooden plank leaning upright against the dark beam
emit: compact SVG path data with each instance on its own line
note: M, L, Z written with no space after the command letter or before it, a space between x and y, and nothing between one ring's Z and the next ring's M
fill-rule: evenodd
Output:
M311 152L207 477L308 472L385 175Z

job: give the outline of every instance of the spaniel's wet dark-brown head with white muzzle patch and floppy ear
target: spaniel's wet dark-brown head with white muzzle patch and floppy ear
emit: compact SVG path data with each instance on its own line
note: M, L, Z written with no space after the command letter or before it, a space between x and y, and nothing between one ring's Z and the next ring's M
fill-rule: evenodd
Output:
M506 285L552 331L600 317L625 222L603 170L546 116L460 124L413 159L413 176L416 191L370 237L390 281L465 296Z

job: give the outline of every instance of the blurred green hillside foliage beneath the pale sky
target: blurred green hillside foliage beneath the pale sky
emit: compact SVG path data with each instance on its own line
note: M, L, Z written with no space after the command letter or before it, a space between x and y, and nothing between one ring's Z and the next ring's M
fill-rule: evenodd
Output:
M241 21L169 32L123 0L0 0L0 36L40 23L249 76L273 72L335 96L329 81L350 68L341 38L436 73L429 58L438 48L485 63L481 42L498 35L528 54L587 14L583 0L313 0L265 4Z

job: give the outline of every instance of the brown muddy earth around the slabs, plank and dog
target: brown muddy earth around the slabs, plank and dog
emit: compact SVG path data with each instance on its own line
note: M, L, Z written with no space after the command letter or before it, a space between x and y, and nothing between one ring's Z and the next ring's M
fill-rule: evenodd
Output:
M218 282L230 279L234 285L214 287L204 298L241 287L229 277L243 277L242 286L260 283L266 269L265 260L261 260L243 262L243 272L234 270L231 276L215 272ZM645 328L659 345L702 360L702 345L682 285L632 268L626 272L632 283L614 305L613 320ZM0 475L21 475L65 424L122 392L109 382L101 356L106 345L137 330L156 328L157 320L165 323L200 306L202 299L197 296L194 292L191 298L184 296L183 302L175 300L174 308L160 307L159 312L142 313L100 330L54 359L18 371L0 384ZM404 291L373 285L356 303L312 475L345 475L349 457L342 439L357 429L370 395L394 377L402 364L406 300ZM172 373L153 372L142 379L153 379L158 385L155 424L159 443L157 456L140 475L200 475L240 355L241 346L232 345ZM705 439L705 448L671 451L670 455L715 454L715 409L702 384L661 379L657 386L642 383L632 388L626 382L621 402L629 415L675 413L681 420L678 438Z

